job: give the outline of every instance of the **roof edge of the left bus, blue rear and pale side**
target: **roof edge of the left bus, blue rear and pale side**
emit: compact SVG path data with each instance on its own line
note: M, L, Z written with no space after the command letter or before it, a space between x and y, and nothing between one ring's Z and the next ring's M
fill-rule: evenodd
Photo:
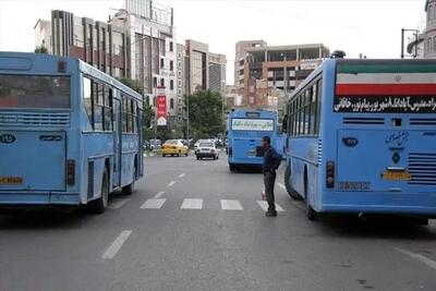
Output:
M74 64L78 68L78 70L83 73L96 76L101 81L117 87L120 90L126 92L129 95L134 97L137 100L142 101L141 94L136 93L135 90L131 89L130 87L125 86L117 78L101 72L100 70L81 61L77 58L73 57L62 57L62 56L53 56L47 53L34 53L34 52L16 52L16 51L0 51L0 72L1 71L31 71L34 66L34 62L43 62L46 61L50 62L58 62L58 61L65 61L68 64Z

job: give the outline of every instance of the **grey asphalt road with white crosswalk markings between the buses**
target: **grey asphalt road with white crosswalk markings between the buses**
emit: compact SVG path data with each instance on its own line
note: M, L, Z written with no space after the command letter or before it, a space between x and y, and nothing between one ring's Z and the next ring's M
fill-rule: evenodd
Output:
M100 216L0 216L0 290L436 290L435 222L312 222L279 184L266 218L225 158L147 158Z

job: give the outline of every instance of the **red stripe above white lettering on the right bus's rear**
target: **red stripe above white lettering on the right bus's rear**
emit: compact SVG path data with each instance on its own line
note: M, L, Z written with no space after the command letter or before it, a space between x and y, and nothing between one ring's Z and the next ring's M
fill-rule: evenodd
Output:
M436 95L436 84L337 84L336 95Z

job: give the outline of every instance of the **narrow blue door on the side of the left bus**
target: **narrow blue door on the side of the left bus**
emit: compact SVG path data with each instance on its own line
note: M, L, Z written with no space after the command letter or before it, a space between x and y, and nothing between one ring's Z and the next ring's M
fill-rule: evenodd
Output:
M113 185L121 186L121 101L113 98Z

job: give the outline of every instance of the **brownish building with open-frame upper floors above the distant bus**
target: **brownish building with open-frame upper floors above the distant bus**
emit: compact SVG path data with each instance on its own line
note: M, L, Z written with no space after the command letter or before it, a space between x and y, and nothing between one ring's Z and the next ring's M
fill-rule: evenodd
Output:
M257 41L247 46L249 43L243 43L245 58L238 62L235 78L246 107L275 107L277 102L271 99L280 98L278 90L283 92L283 98L330 54L323 44L266 46L265 41ZM240 46L237 44L237 50Z

